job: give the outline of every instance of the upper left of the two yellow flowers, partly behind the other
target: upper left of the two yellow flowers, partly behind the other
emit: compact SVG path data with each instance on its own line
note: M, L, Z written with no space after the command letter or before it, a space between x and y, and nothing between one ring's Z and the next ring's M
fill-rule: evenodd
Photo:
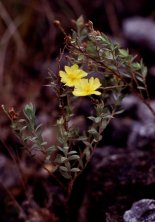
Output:
M65 72L60 71L61 82L65 83L66 86L75 86L79 80L88 75L85 71L79 68L77 64L71 67L65 66Z

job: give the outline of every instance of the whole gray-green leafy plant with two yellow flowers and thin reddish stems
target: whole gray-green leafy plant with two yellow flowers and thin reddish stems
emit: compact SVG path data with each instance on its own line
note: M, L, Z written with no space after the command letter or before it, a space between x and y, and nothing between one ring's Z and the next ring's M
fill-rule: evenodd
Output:
M60 23L57 24L60 26ZM49 86L58 101L56 143L48 147L43 140L32 104L25 106L22 119L18 115L12 118L4 108L14 132L29 147L29 152L42 152L44 166L52 165L52 173L60 172L71 184L89 162L110 120L122 112L120 104L126 93L134 92L148 105L143 99L144 95L148 97L148 93L145 82L147 69L142 60L137 62L128 50L95 31L92 23L84 23L82 17L74 25L72 35L65 34L68 64L60 69L61 53L58 73L49 71ZM81 99L85 99L90 108L87 116L81 111L83 121L78 126L76 109ZM86 124L87 120L89 124Z

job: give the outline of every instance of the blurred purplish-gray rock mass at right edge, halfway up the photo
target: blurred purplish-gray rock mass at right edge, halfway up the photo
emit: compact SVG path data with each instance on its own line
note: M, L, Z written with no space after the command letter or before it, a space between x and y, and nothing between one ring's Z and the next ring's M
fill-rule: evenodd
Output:
M155 110L155 102L151 101L150 106ZM128 147L144 147L155 141L155 116L150 109L137 97L126 96L122 101L122 108L128 114L134 113L131 123L131 131L128 136Z

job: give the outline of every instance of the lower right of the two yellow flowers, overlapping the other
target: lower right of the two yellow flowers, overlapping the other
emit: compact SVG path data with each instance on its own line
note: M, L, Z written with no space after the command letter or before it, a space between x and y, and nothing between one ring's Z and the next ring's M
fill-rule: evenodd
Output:
M91 77L90 79L81 79L76 85L73 91L74 96L89 96L92 94L101 95L99 91L96 91L101 86L98 78Z

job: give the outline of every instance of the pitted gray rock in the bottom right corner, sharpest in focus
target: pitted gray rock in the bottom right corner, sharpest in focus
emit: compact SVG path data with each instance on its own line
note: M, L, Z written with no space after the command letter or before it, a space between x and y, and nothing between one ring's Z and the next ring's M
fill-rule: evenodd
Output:
M123 216L124 222L155 222L155 200L142 199L135 202Z

